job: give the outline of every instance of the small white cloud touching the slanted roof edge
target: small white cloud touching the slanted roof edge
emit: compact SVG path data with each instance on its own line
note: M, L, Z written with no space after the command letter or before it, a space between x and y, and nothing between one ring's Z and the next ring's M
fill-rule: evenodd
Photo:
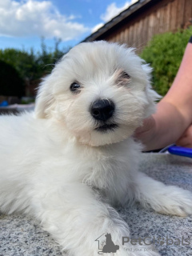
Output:
M101 19L103 22L109 22L111 18L114 18L118 14L120 14L123 10L126 10L129 6L131 6L134 2L138 2L138 0L131 0L125 2L122 7L117 7L115 2L112 2L106 8L106 13L101 15Z

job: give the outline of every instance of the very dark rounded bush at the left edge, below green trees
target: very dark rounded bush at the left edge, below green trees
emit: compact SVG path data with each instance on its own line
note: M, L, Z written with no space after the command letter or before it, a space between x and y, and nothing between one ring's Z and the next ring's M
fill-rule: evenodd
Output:
M0 95L18 96L25 94L24 82L18 71L10 64L0 60Z

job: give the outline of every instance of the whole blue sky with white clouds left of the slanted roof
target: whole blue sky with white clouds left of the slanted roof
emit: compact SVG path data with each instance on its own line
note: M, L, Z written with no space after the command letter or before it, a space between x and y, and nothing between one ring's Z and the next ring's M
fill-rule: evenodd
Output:
M0 49L74 46L136 0L0 0Z

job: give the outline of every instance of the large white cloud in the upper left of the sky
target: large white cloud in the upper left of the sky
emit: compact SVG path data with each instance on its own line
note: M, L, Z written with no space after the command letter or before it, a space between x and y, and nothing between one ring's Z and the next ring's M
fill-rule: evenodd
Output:
M50 1L0 0L0 35L12 37L78 38L89 30L74 22L74 15L62 15Z

